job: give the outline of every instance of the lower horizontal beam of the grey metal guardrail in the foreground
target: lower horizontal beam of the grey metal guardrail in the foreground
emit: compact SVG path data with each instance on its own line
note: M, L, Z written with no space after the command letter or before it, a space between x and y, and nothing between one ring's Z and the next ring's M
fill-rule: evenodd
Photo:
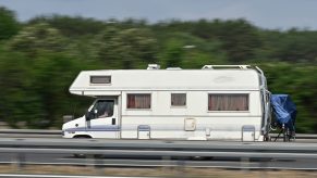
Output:
M155 151L155 150L95 150L95 149L22 149L0 148L5 153L46 153L46 154L102 154L119 156L173 156L173 157L247 157L247 158L317 158L317 153L267 153L234 151Z

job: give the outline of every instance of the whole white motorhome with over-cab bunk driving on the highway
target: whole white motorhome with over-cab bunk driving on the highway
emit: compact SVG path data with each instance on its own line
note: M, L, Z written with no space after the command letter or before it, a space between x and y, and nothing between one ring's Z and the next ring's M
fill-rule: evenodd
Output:
M84 71L70 92L96 98L64 138L264 141L269 92L258 67Z

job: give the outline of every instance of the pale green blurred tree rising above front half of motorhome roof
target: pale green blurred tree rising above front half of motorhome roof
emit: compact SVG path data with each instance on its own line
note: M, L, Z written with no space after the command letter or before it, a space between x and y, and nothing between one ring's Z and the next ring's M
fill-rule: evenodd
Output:
M97 36L96 58L109 68L137 68L156 60L157 41L148 29L107 28Z

